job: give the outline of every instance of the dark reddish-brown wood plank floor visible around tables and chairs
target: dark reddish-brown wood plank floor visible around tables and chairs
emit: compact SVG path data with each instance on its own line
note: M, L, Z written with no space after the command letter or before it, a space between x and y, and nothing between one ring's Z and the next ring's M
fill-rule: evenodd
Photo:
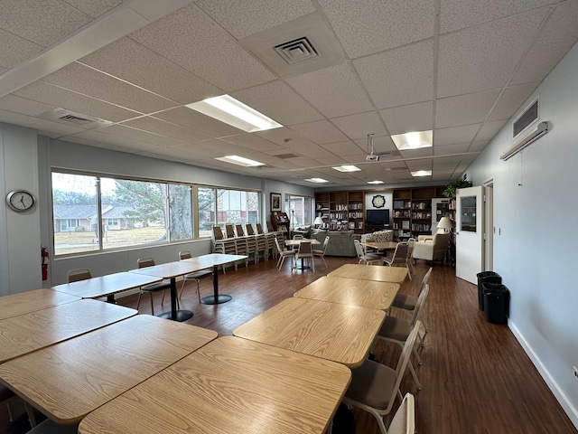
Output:
M316 261L316 272L290 270L285 261L282 271L275 261L260 261L238 271L219 273L220 293L233 299L223 305L200 305L195 286L189 283L182 297L182 308L191 309L188 321L207 327L219 335L233 330L269 307L303 288L316 278L355 259L326 258L328 268ZM406 280L401 291L416 294L428 266L418 261L416 276ZM433 267L431 290L424 319L429 334L419 349L423 364L415 363L423 390L417 391L411 375L406 375L402 392L415 394L418 433L467 434L577 434L572 423L548 390L527 355L506 325L484 320L478 308L477 288L455 278L454 269ZM201 280L201 296L212 293L210 278ZM168 294L167 294L168 296ZM119 299L119 304L136 307L136 296ZM168 309L161 294L154 295L154 312ZM150 313L148 294L141 300L140 312ZM395 366L400 349L396 344L379 343L379 362ZM266 391L264 391L266 392ZM378 433L373 417L353 410L358 434ZM0 433L5 432L7 416L0 409ZM387 425L388 422L386 422ZM337 427L336 427L337 428ZM338 432L334 430L334 432Z

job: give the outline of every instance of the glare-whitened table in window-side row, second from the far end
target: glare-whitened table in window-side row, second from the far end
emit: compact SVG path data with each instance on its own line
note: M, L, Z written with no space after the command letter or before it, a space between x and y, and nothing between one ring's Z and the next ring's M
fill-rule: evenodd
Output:
M156 276L145 276L144 274L135 274L123 271L120 273L107 274L107 276L64 283L52 287L52 289L82 298L107 297L108 302L114 303L114 295L118 292L142 287L154 282L160 282L161 280L163 279Z

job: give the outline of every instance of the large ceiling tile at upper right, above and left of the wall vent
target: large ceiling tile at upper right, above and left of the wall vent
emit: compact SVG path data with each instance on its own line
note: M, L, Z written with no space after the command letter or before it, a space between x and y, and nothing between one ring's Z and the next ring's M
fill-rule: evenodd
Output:
M438 97L503 87L546 12L540 9L440 36Z

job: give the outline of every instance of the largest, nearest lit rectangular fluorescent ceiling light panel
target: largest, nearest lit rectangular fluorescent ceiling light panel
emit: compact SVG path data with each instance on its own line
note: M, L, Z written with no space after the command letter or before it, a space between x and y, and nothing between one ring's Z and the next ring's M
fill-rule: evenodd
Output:
M262 113L256 111L256 109L251 109L246 104L228 95L203 99L199 102L187 104L186 107L199 111L203 115L210 116L210 118L215 118L228 125L242 129L247 133L283 127L283 125L278 124L272 118L267 118Z

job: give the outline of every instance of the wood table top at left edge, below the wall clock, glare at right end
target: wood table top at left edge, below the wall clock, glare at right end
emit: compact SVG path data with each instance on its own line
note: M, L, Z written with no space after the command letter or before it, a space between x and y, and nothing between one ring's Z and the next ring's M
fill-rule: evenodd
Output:
M0 319L10 318L77 301L80 297L54 292L49 288L33 289L32 291L0 297Z

